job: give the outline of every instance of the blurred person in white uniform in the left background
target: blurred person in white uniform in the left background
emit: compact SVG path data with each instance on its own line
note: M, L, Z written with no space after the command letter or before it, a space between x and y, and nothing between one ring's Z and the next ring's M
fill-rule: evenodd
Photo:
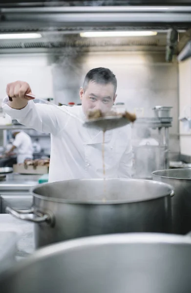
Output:
M25 159L32 159L33 146L30 136L24 131L13 131L13 137L13 145L6 154L9 155L17 149L17 164L24 163Z

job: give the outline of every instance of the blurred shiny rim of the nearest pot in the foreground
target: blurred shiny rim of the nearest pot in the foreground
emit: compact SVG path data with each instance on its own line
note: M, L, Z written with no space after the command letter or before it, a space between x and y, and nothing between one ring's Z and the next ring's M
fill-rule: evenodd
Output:
M191 246L191 237L188 235L165 234L165 233L119 233L99 236L88 236L73 240L67 240L55 244L48 245L35 251L32 255L25 258L22 262L15 266L10 266L6 271L0 274L0 282L3 279L9 279L12 275L21 272L26 267L33 265L37 261L44 260L48 256L57 253L67 253L87 249L90 247L99 247L103 245L189 245Z

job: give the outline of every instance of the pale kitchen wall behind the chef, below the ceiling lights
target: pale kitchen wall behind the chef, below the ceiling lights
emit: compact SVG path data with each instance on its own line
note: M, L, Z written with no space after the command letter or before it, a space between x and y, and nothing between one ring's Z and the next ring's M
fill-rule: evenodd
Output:
M79 87L85 73L93 67L108 67L118 80L117 102L124 102L129 111L143 107L151 117L154 105L173 106L170 129L170 150L179 152L178 136L178 65L166 63L164 53L88 52L65 50L62 55L0 55L0 97L6 84L24 80L38 98L54 97L62 104L80 103ZM155 132L154 132L155 134Z

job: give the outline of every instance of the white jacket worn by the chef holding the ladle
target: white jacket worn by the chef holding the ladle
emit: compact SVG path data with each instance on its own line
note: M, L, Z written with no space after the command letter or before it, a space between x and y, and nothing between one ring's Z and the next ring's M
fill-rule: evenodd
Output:
M103 131L85 128L69 116L85 121L82 106L54 106L29 101L21 110L2 102L4 111L21 124L51 133L49 182L103 178ZM106 178L130 178L132 167L131 126L106 131Z

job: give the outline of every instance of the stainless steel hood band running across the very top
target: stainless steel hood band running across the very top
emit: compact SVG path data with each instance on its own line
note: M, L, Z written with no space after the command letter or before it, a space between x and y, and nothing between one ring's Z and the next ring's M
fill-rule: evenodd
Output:
M191 6L85 6L1 8L0 29L38 29L65 27L72 29L126 26L128 28L189 28Z

